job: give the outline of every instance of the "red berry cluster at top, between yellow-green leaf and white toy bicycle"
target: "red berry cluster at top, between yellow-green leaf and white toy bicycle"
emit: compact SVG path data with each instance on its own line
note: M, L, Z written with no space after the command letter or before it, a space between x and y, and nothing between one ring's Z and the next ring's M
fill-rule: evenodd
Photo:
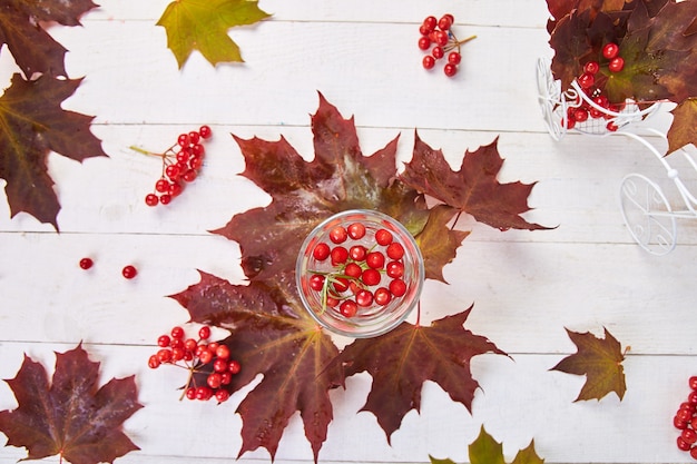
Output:
M474 39L475 36L458 40L451 29L454 20L454 17L450 13L444 14L440 20L430 16L419 27L419 32L421 33L419 48L423 51L430 51L430 55L423 57L421 62L424 69L433 69L438 60L448 57L443 72L448 77L453 77L458 73L458 65L462 60L460 46Z

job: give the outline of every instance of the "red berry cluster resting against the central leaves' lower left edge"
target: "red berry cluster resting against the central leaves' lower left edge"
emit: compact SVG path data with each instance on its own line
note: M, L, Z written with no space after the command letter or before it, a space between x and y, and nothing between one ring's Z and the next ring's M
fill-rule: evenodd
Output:
M184 391L188 399L208 401L215 397L218 403L229 398L225 388L233 375L239 373L239 362L230 358L229 348L217 342L209 342L210 327L198 329L198 339L185 338L184 328L174 327L169 335L157 338L158 352L150 356L148 366L157 368L163 364L171 364L189 371L189 379ZM194 374L206 374L206 385L196 385Z

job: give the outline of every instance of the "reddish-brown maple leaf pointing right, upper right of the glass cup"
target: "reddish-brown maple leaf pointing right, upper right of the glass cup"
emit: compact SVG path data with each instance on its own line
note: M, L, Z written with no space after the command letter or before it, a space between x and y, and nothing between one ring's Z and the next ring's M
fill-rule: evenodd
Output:
M468 150L460 170L453 171L443 152L434 150L416 135L413 158L406 164L401 180L491 227L547 228L520 217L530 210L528 196L534 184L500 184L497 180L503 165L497 142L498 138L475 151Z

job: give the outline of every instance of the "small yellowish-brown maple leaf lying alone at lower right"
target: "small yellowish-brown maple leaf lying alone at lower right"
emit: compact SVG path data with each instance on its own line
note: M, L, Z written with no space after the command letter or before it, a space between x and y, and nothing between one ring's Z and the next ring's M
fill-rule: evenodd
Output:
M575 402L580 399L600 399L615 392L620 401L625 396L625 354L619 342L605 329L605 338L593 334L583 334L567 329L578 352L565 357L551 371L586 375L586 383Z

